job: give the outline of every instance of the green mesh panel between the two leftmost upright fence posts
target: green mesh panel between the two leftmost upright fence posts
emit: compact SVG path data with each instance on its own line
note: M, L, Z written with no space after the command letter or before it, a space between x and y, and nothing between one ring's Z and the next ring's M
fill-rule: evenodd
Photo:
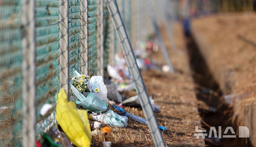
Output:
M59 89L59 1L35 1L36 35L36 134L37 137L54 125L55 107L44 116L44 104L55 106Z

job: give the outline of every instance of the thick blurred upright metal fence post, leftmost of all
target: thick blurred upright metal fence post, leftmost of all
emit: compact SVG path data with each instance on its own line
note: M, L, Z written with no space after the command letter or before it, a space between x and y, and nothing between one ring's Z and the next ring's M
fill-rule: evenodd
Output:
M34 0L22 0L23 49L23 147L34 147L36 140L36 64Z

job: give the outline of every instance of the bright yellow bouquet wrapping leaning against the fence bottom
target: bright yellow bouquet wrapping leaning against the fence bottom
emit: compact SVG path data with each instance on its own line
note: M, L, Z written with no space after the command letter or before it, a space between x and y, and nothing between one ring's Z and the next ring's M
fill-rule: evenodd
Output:
M91 129L87 111L77 110L74 102L66 100L64 89L58 94L56 119L69 140L78 147L90 147Z

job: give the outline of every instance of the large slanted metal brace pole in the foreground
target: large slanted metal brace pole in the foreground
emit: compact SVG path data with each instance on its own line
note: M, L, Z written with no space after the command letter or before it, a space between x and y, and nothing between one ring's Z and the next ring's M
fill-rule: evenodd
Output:
M155 146L165 147L165 143L162 138L160 129L158 127L158 122L155 118L154 111L150 104L148 93L146 92L146 88L145 88L142 76L139 71L139 67L137 65L137 62L132 50L132 46L130 44L126 29L124 28L124 24L122 22L122 18L118 10L117 3L115 0L105 0L105 1L108 7L108 11L110 12L114 28L117 31L120 45L124 53L124 58L126 59L126 63L129 68L130 74L133 77L133 83L138 93L140 104L142 104L142 109L146 117L146 120L148 122L148 126L150 129L152 138L154 140Z

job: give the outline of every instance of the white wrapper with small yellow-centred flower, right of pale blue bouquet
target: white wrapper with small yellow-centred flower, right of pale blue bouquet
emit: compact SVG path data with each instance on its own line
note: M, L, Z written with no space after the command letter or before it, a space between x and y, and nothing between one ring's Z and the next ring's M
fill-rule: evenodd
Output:
M98 92L94 91L96 88L99 90ZM104 102L107 102L107 87L103 82L102 76L92 76L88 82L88 89Z

